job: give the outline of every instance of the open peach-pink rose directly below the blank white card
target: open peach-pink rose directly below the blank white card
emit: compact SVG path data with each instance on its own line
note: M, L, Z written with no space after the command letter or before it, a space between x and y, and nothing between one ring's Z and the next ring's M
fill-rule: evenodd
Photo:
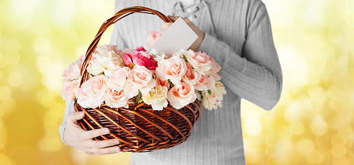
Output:
M161 80L171 80L174 85L180 85L180 80L187 72L185 61L178 56L162 60L156 68L156 76Z

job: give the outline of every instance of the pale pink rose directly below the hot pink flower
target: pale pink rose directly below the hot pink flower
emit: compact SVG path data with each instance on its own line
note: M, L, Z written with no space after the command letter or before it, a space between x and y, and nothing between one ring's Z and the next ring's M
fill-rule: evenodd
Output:
M127 76L127 84L125 86L125 95L128 98L132 98L138 95L140 90L141 94L146 94L147 92L155 87L156 80L152 78L152 74L146 67L135 65L134 68L129 71Z

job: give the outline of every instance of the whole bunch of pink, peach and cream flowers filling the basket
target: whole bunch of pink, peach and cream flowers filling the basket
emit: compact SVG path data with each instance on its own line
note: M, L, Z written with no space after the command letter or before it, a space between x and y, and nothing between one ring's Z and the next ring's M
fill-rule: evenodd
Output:
M220 82L220 65L205 52L180 50L171 56L147 52L162 32L149 32L145 47L118 50L116 45L96 47L88 62L90 78L81 87L84 56L63 72L64 100L77 99L83 108L105 104L112 108L145 102L154 110L171 104L180 109L196 99L206 109L222 107L225 87Z

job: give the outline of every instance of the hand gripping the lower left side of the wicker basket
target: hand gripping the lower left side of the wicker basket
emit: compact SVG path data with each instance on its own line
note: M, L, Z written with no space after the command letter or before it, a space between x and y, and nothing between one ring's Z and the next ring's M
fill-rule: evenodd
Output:
M82 129L77 120L81 120L85 116L84 112L74 112L67 118L63 139L66 144L80 149L87 155L105 155L118 153L121 148L114 146L119 144L119 140L93 140L92 138L110 133L110 129L95 129L85 131Z

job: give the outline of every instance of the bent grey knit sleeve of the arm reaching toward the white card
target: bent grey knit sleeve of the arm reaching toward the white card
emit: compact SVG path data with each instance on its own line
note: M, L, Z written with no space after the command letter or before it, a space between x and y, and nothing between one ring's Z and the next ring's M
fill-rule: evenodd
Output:
M222 83L234 94L270 110L280 99L282 71L265 5L260 3L255 11L248 17L241 56L210 34L205 34L198 50L215 58L222 67Z

